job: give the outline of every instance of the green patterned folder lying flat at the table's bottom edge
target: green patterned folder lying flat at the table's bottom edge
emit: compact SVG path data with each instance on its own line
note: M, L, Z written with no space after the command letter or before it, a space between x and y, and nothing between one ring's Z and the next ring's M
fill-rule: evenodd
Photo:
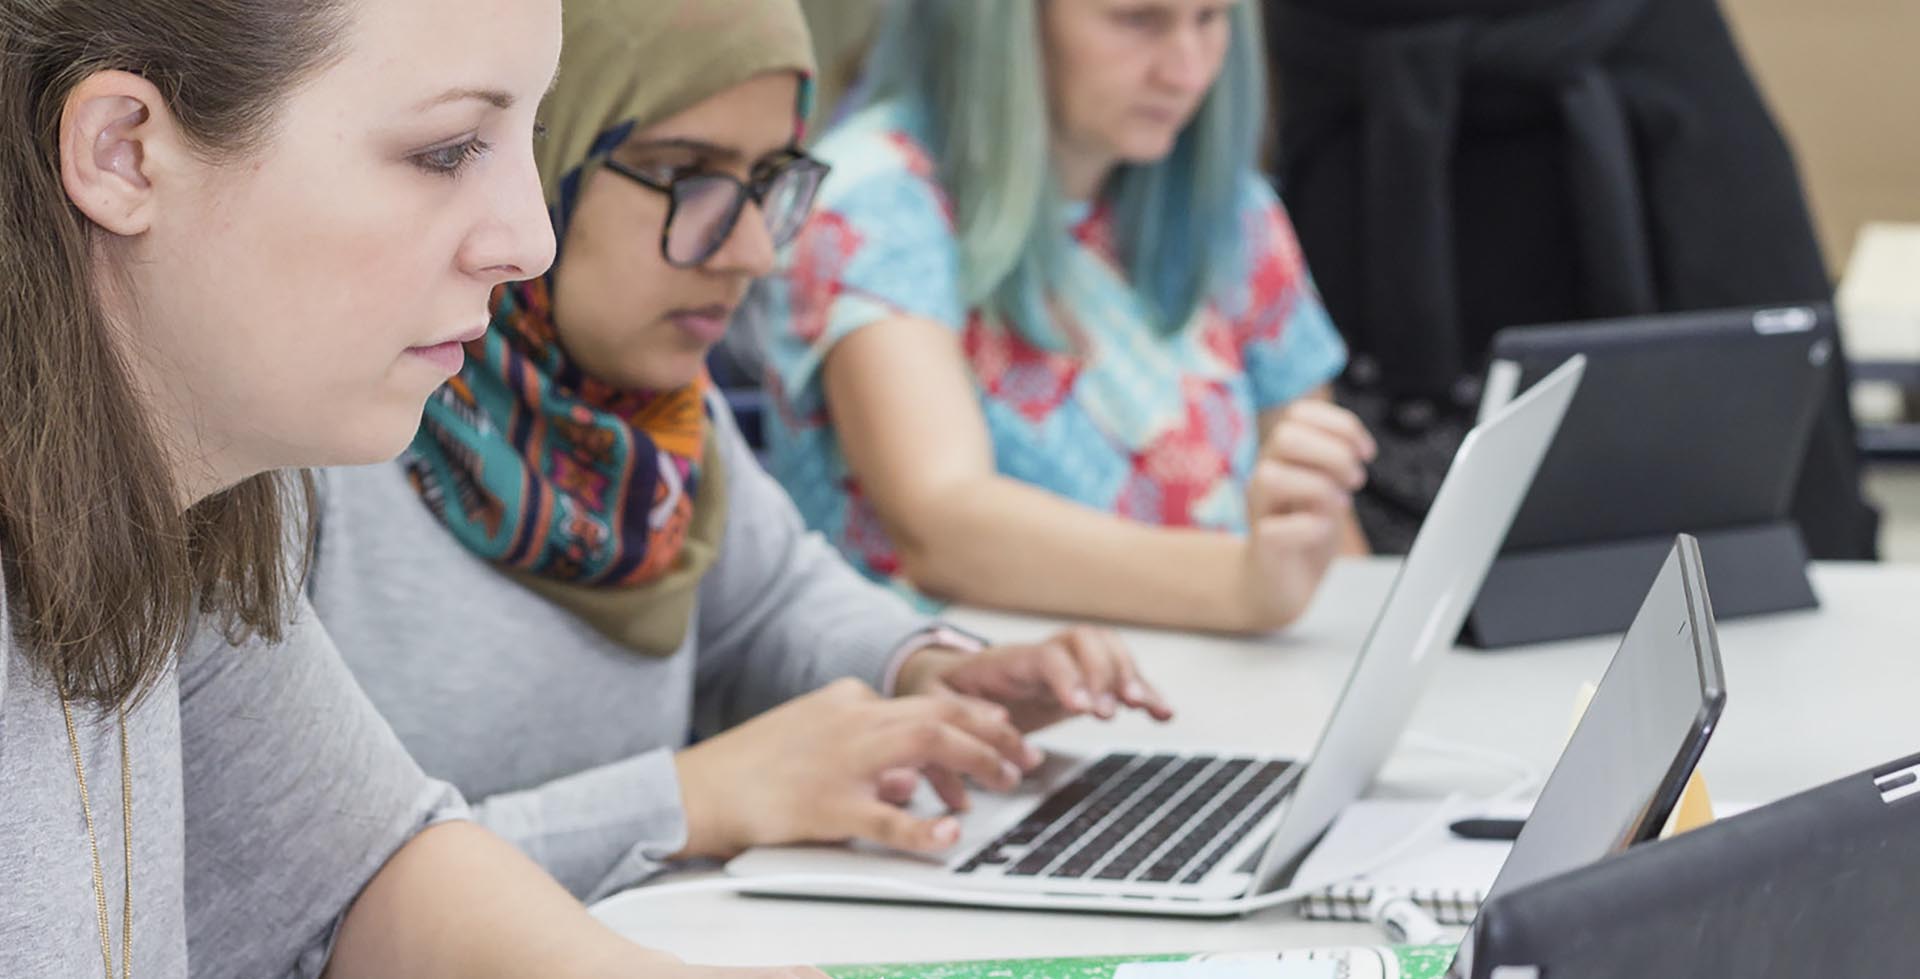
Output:
M833 979L1114 979L1129 962L1202 960L1332 960L1340 979L1442 979L1453 944L1302 948L1290 952L1213 952L1177 956L1010 958L983 962L922 962L899 966L826 966Z

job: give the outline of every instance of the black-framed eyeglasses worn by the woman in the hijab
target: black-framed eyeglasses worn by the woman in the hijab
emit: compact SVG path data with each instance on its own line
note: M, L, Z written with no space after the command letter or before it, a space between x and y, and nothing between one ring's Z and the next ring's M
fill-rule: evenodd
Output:
M829 167L799 150L789 150L755 167L747 180L728 173L678 173L662 180L618 159L609 159L607 169L666 194L660 255L676 269L697 269L726 246L749 200L760 205L774 248L791 242L806 223L806 213L814 209L814 194L820 192L820 180L828 177Z

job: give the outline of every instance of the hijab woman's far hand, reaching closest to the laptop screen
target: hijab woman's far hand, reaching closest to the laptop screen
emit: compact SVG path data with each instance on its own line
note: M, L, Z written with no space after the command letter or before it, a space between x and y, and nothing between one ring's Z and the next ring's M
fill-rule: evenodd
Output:
M1123 706L1154 720L1173 718L1119 637L1091 626L973 655L925 649L900 668L899 689L996 703L1029 733L1081 714L1112 720Z

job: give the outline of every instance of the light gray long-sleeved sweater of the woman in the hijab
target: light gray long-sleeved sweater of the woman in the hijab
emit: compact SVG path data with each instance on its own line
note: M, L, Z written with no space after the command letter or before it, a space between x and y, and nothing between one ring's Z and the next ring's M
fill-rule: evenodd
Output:
M367 695L476 818L576 896L685 843L672 752L854 676L927 620L808 534L716 401L728 526L680 651L645 657L467 551L399 465L323 478L311 595Z

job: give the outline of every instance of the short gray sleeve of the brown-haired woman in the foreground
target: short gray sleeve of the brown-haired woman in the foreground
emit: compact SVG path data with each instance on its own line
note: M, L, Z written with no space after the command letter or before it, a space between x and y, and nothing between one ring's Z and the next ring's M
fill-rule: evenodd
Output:
M407 756L301 603L278 645L202 628L180 655L186 943L194 975L319 975L407 839L465 816Z

